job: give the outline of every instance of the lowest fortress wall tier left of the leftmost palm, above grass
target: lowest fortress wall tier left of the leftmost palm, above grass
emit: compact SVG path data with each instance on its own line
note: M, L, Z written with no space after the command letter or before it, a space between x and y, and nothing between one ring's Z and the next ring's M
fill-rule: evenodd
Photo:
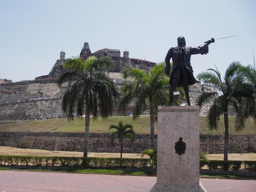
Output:
M20 120L20 118L29 119L34 117L46 119L47 116L62 116L61 102L62 99L52 99L1 105L0 119L2 121L10 121Z

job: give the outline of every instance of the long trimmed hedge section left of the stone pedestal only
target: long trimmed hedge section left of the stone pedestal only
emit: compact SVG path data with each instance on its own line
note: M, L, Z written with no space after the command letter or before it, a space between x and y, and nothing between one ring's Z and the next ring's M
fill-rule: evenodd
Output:
M140 168L150 166L149 159L130 158L103 158L103 157L44 157L44 156L18 156L0 155L0 165L25 166L84 166L95 168Z

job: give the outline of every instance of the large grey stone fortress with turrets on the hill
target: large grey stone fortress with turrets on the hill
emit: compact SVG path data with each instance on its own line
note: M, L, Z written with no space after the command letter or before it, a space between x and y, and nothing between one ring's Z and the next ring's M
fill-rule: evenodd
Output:
M87 42L84 43L80 57L86 59L93 55L97 57L108 56L116 62L116 66L107 70L106 73L116 82L118 87L125 83L125 80L122 79L120 73L122 70L126 68L139 68L149 71L151 67L156 64L143 59L129 58L128 51L124 51L121 57L119 49L100 49L91 53L89 44ZM48 119L63 116L61 111L62 99L54 98L63 95L68 84L68 82L65 83L61 89L55 84L59 74L64 71L63 63L65 61L65 52L61 51L60 59L55 62L48 75L36 77L34 80L19 82L0 79L1 90L9 90L11 93L13 93L13 91L18 92L18 94L6 94L3 91L0 92L0 122L17 121L21 119ZM200 93L205 91L215 91L212 86L201 84L200 81L197 81L196 84L189 88L192 105L195 105L195 98ZM23 94L20 94L21 92ZM35 99L40 97L48 97L51 99L30 100L30 98ZM210 104L205 105L200 111L200 115L205 115L209 106ZM131 111L131 108L128 110ZM114 114L117 114L116 110L114 111ZM145 111L145 114L147 114L147 111Z

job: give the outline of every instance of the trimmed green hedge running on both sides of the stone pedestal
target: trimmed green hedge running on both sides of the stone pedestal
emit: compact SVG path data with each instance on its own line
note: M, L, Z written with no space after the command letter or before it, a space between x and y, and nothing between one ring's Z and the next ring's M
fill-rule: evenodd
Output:
M84 166L94 168L140 168L150 167L150 159L103 158L103 157L44 157L0 155L0 165L24 166ZM223 161L200 160L200 169L207 166L211 170L234 170L244 167L244 170L256 172L256 161Z

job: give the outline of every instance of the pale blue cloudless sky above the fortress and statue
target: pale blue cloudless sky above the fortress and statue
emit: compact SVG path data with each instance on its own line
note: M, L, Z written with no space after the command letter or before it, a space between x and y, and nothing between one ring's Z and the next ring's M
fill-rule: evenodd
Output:
M84 42L160 62L180 35L192 47L239 35L192 55L194 76L214 63L224 74L232 61L253 65L255 9L255 0L0 0L0 78L48 75L61 50L79 55Z

